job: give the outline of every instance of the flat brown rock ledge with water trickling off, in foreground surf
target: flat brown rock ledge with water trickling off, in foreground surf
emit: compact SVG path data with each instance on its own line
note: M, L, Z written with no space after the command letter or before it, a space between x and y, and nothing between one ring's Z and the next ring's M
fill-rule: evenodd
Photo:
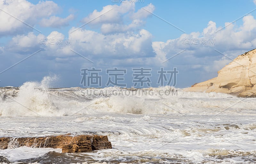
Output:
M62 152L90 152L100 149L111 149L108 136L79 135L79 136L47 136L47 137L1 137L0 149L28 146L33 148L60 148Z

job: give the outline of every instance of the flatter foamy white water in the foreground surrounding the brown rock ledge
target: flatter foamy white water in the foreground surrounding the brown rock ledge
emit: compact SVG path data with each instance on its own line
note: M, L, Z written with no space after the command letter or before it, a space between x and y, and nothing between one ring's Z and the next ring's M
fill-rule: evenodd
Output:
M172 161L171 163L185 164L213 160L232 163L229 160L253 160L256 157L254 129L256 122L250 121L253 118L254 116L246 115L231 115L227 118L193 115L191 118L190 115L179 113L144 116L97 114L78 117L16 117L15 119L2 117L0 123L3 127L0 128L0 136L47 136L68 132L76 135L108 135L113 149L77 154L81 156L80 163L86 161L88 157L92 158L91 161L100 163L102 161L116 161L115 163L125 161L126 163L164 161L170 163ZM30 157L34 158L33 161L37 161L49 152L26 147L12 150L15 151L6 153L7 150L0 150L0 156L4 154L11 161L24 161ZM28 157L25 157L26 153ZM73 157L75 155L70 154ZM16 156L16 159L13 159L13 156ZM61 161L69 158L65 153L56 158L61 156L63 156Z

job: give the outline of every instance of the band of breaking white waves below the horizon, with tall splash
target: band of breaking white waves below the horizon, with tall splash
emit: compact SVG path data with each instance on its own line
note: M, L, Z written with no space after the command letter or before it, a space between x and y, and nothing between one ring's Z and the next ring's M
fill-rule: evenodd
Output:
M2 89L0 116L66 116L96 113L207 113L254 109L255 101L222 93L183 92L172 87L121 89L49 89L57 76L25 82L19 90ZM167 94L166 94L167 93ZM228 109L228 110L226 110ZM232 111L232 112L234 112Z

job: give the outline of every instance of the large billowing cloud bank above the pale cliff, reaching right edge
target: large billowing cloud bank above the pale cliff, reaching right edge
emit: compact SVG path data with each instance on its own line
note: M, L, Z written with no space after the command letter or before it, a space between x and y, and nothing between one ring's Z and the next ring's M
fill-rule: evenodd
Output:
M187 69L202 70L208 78L216 76L218 70L231 59L256 47L256 20L252 15L244 16L243 25L235 27L229 22L225 28L217 27L209 21L202 32L182 34L167 42L153 42L155 59L164 62L182 50L187 50L165 62L166 65L182 65ZM219 31L220 30L220 31ZM221 53L217 52L220 51ZM207 72L207 75L205 75ZM207 79L207 78L206 78Z

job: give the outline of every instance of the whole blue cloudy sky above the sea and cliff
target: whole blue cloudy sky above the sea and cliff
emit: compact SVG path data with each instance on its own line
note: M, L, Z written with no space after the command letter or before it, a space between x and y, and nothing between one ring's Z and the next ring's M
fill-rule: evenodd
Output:
M0 22L1 87L185 88L256 48L256 0L1 0Z

